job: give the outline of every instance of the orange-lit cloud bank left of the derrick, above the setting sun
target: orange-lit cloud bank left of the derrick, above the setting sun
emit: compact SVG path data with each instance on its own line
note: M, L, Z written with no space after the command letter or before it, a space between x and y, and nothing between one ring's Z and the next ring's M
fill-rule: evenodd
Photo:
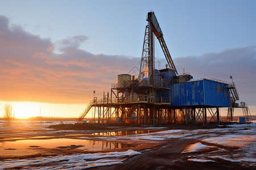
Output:
M0 100L88 103L93 90L101 97L117 74L138 65L140 58L79 49L87 40L80 35L53 43L10 26L9 19L0 16Z

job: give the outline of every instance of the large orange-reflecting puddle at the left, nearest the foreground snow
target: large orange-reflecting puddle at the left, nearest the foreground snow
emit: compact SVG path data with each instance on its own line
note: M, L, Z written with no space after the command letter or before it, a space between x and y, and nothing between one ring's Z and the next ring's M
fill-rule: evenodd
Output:
M71 145L81 145L78 147L81 150L91 150L91 151L101 151L107 149L118 149L126 147L135 147L137 145L127 144L127 143L117 143L117 142L107 142L107 141L92 141L84 139L67 139L67 138L57 138L57 139L29 139L20 141L7 141L0 142L0 155L17 155L17 154L35 154L38 152L36 150L31 150L31 148L56 148L60 146L71 146Z

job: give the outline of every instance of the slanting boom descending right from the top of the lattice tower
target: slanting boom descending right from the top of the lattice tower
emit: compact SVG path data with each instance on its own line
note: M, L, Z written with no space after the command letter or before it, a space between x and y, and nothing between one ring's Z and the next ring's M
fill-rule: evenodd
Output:
M158 23L158 20L156 19L154 12L148 12L147 13L147 19L146 19L152 26L152 32L154 32L154 35L157 37L161 48L163 50L164 56L166 57L166 60L168 62L168 65L171 69L174 69L177 73L176 67L174 65L174 61L172 61L171 54L167 48L166 41L164 41L163 38L163 32L160 28L160 25Z

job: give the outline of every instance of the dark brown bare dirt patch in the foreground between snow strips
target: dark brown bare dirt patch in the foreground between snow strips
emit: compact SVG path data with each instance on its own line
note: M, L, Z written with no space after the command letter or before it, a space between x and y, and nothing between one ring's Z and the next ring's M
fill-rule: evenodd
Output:
M181 154L188 143L191 141L168 141L163 145L151 147L149 151L141 150L141 155L127 159L122 164L111 165L104 167L104 169L256 169L256 167L244 167L239 163L223 160L218 162L188 162L186 161L188 155Z

